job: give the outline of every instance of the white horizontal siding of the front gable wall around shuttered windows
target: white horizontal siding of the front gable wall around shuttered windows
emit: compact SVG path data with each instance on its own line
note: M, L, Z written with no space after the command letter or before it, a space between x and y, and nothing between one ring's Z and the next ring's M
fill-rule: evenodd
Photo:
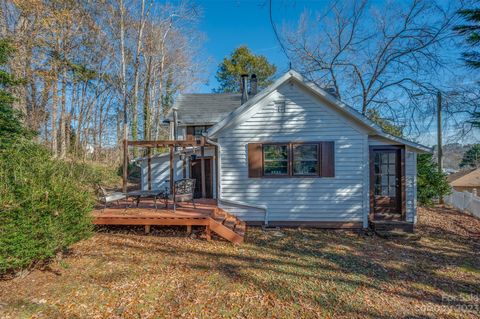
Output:
M282 100L285 113L275 104ZM364 222L366 133L296 85L282 85L254 109L241 124L219 133L221 198L265 206L269 221ZM335 177L248 177L248 143L295 141L334 141ZM231 209L247 221L263 219L260 212Z

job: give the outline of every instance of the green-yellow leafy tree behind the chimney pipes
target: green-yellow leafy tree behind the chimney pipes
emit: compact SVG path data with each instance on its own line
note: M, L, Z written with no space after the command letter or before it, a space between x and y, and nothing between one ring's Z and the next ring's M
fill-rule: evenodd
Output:
M264 88L273 82L277 67L268 62L263 55L253 54L247 46L235 49L230 58L224 58L218 66L215 76L219 87L217 93L240 92L240 76L256 74L259 88Z

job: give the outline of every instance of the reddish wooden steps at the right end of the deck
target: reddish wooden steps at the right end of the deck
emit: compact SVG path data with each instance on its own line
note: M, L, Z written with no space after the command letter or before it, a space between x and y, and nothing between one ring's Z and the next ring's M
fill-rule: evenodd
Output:
M210 230L235 244L243 243L246 224L221 208L215 208L210 217Z

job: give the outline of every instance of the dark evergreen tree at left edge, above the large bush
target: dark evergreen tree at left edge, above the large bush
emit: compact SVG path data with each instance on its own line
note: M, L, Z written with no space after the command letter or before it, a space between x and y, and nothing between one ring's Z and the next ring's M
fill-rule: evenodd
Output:
M17 138L33 136L24 128L22 113L13 108L15 99L8 91L19 83L5 67L14 52L9 39L0 39L0 148L12 144Z

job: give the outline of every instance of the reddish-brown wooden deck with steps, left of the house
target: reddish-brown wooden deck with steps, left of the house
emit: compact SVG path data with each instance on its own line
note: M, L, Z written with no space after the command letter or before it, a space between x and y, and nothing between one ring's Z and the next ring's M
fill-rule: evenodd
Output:
M181 203L173 211L170 203L164 208L163 202L158 203L155 209L152 200L142 200L139 207L125 209L126 203L112 205L105 210L97 209L92 212L95 225L143 225L145 231L150 231L150 226L205 226L207 240L211 239L211 232L233 243L242 243L246 230L245 222L239 220L226 211L218 208L214 200L195 200L195 208L192 203Z

